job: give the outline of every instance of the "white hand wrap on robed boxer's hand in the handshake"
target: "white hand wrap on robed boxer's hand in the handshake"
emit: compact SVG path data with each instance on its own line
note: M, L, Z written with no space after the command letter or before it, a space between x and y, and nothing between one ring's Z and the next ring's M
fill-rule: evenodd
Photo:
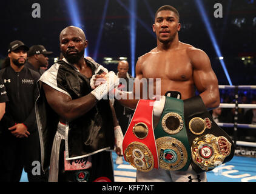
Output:
M94 89L91 93L93 96L95 96L96 99L101 100L104 96L107 95L107 93L109 93L111 90L113 90L113 88L119 84L119 78L118 76L115 75L114 72L109 72L106 74L106 79L104 79L104 81L106 81L104 84L99 85L98 87L96 87L96 89ZM93 78L90 80L90 82L94 82ZM99 79L100 82L103 81L103 79ZM99 84L99 82L95 82L97 84ZM91 87L93 87L93 85L95 86L95 84L90 84Z

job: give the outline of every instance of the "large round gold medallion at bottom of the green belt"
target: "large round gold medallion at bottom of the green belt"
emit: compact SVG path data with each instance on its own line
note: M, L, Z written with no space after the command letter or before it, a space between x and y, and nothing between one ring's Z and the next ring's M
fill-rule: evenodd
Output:
M165 136L156 140L159 166L165 170L180 170L187 162L187 150L178 139Z

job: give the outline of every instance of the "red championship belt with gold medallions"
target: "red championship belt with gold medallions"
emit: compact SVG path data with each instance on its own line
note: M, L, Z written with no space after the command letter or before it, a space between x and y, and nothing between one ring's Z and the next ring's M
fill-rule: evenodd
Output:
M123 140L124 159L142 172L158 169L158 156L153 133L153 102L141 99Z

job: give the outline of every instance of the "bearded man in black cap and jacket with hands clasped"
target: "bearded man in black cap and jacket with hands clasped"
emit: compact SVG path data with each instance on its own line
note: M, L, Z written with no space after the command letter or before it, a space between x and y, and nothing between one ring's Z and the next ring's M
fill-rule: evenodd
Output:
M40 155L34 104L38 91L36 81L40 75L24 66L28 50L21 41L11 42L8 49L10 65L0 71L9 100L0 122L0 181L18 182L23 167L29 181L44 180L40 176L42 173L35 171Z

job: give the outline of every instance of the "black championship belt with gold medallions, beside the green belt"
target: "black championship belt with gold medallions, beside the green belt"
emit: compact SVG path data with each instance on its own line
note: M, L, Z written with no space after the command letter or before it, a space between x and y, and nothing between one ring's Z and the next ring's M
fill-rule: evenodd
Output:
M214 122L200 96L184 100L184 118L195 172L212 170L233 158L232 139Z

